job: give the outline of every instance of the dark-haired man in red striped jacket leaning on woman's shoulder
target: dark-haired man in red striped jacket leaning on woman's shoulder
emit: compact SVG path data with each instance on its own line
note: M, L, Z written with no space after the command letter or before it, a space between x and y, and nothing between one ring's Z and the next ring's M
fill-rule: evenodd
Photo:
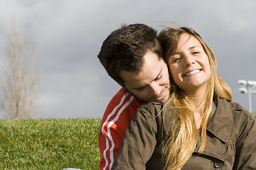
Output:
M169 98L169 74L156 30L144 24L122 26L102 43L98 58L122 86L102 118L100 169L111 169L124 132L142 102Z

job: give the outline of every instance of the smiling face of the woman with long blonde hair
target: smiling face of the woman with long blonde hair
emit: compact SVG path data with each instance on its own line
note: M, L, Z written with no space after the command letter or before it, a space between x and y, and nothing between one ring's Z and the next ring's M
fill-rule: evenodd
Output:
M206 93L206 85L210 79L210 64L201 42L195 37L183 33L177 51L168 63L171 77L186 94Z

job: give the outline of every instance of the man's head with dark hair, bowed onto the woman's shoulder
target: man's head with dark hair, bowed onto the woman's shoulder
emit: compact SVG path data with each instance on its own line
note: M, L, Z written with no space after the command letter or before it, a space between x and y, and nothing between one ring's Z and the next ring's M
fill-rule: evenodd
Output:
M140 101L166 101L169 74L156 39L144 24L122 26L102 43L98 58L107 73Z

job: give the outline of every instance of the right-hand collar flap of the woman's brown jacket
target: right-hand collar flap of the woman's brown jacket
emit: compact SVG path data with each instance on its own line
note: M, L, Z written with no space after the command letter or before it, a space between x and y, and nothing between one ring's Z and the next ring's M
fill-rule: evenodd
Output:
M210 118L206 129L223 142L228 142L233 126L230 104L227 100L218 96L214 97L214 101L216 110L212 118Z

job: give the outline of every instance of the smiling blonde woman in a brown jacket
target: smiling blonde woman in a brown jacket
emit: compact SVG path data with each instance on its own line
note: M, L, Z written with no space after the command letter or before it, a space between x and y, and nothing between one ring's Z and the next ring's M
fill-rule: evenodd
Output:
M191 28L165 28L159 41L171 96L137 110L113 169L256 169L255 120L231 102L210 47Z

